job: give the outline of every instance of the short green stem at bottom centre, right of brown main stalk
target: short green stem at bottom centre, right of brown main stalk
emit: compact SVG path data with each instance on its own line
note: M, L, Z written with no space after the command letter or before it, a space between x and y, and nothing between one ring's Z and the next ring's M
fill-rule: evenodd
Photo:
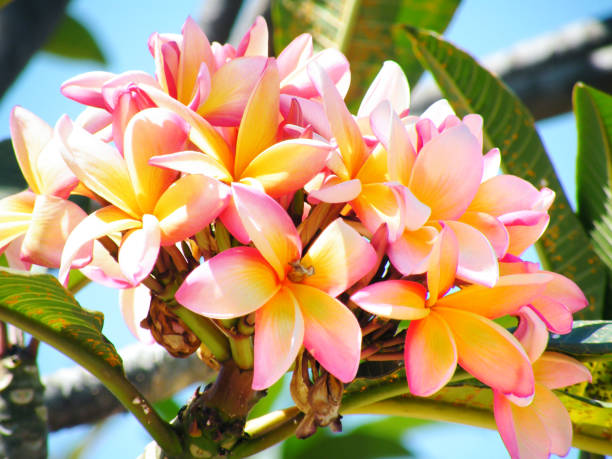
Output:
M302 417L293 406L248 421L244 430L250 438L236 445L230 457L250 456L286 440L293 435Z

